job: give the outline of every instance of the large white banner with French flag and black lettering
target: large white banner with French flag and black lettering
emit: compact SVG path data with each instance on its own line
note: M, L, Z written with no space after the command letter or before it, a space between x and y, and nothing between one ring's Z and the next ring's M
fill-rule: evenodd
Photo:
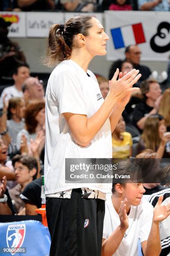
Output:
M106 11L107 60L124 59L124 50L138 44L143 61L167 61L170 55L170 13Z

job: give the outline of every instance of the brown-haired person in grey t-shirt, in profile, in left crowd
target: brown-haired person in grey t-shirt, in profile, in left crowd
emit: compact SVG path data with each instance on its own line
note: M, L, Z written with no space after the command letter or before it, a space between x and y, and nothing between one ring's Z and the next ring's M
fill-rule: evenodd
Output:
M25 126L23 120L25 116L25 101L23 98L12 98L9 100L8 105L8 120L7 128L11 140L16 145L17 134Z

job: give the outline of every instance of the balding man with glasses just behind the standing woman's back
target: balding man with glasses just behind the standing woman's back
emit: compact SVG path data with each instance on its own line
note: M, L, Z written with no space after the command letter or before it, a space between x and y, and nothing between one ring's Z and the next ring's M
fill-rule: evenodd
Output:
M24 99L26 105L33 99L44 99L45 92L43 88L43 81L37 77L28 77L22 86Z

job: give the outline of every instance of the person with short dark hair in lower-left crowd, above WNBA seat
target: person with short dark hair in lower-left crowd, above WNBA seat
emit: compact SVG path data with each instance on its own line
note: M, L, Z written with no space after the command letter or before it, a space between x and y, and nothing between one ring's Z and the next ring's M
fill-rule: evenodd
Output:
M14 174L17 185L13 189L9 189L10 198L17 213L21 212L25 207L23 200L20 199L21 192L28 183L37 177L38 164L37 160L31 156L15 155L13 157ZM24 211L23 215L25 214Z

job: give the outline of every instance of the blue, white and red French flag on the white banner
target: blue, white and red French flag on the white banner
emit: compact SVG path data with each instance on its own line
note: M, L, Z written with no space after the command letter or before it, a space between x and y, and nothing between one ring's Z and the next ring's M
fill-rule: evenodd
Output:
M146 42L142 23L126 25L121 28L112 28L111 33L115 49L127 47L130 44L142 44Z

